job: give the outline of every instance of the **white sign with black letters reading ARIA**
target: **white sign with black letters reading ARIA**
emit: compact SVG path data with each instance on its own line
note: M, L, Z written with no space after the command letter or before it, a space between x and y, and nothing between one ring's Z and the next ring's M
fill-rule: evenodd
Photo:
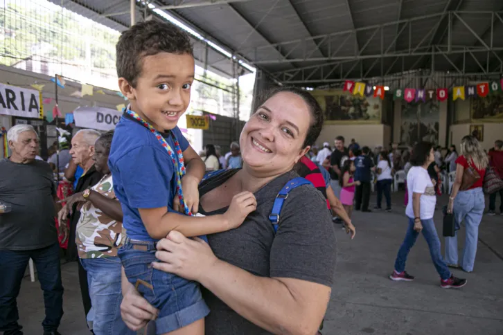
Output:
M39 91L0 84L0 114L39 118Z

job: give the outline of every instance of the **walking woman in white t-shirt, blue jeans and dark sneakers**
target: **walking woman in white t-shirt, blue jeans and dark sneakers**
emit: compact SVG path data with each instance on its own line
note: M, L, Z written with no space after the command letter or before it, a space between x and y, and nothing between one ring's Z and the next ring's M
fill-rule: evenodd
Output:
M431 143L421 142L414 146L410 159L412 168L407 174L407 188L411 201L407 204L405 215L408 217L409 228L407 228L407 234L396 256L395 269L389 279L395 281L405 280L407 282L414 280L414 277L405 271L405 263L410 249L414 246L419 233L422 231L430 248L433 264L440 275L440 286L443 289L459 289L464 287L466 280L452 275L447 264L443 261L439 235L436 234L433 221L436 204L434 180L430 178L426 170L433 161L434 151Z

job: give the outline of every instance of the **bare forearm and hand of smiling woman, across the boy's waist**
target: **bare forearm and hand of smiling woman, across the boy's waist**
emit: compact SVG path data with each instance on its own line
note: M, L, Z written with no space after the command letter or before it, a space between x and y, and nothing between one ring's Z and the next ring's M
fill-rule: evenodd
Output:
M251 323L274 334L315 334L330 287L292 278L265 278L218 260L201 239L178 232L157 244L155 269L197 280ZM168 252L166 252L168 251Z

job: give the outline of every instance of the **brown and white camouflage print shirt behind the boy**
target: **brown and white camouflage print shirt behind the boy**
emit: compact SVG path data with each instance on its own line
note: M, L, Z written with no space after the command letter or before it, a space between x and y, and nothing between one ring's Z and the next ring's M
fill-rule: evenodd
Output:
M91 190L117 200L112 174L104 176ZM118 200L117 200L118 201ZM80 210L76 244L80 258L113 257L123 242L122 222L115 221L87 201Z

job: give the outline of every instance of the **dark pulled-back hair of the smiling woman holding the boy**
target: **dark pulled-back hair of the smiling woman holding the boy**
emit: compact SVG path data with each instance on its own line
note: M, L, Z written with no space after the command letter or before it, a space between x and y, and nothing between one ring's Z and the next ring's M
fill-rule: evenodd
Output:
M304 140L302 147L307 146L312 147L312 145L315 145L319 133L321 133L324 118L323 118L323 109L321 109L319 103L313 96L311 96L311 94L308 91L304 91L303 89L299 89L297 87L276 87L274 89L271 89L270 91L266 91L262 95L260 103L257 106L260 107L261 105L264 104L264 102L266 102L273 96L276 96L276 94L282 92L294 93L295 95L301 97L302 100L306 102L306 105L308 105L308 109L312 116L312 120L308 129L308 134L306 135L306 139Z

